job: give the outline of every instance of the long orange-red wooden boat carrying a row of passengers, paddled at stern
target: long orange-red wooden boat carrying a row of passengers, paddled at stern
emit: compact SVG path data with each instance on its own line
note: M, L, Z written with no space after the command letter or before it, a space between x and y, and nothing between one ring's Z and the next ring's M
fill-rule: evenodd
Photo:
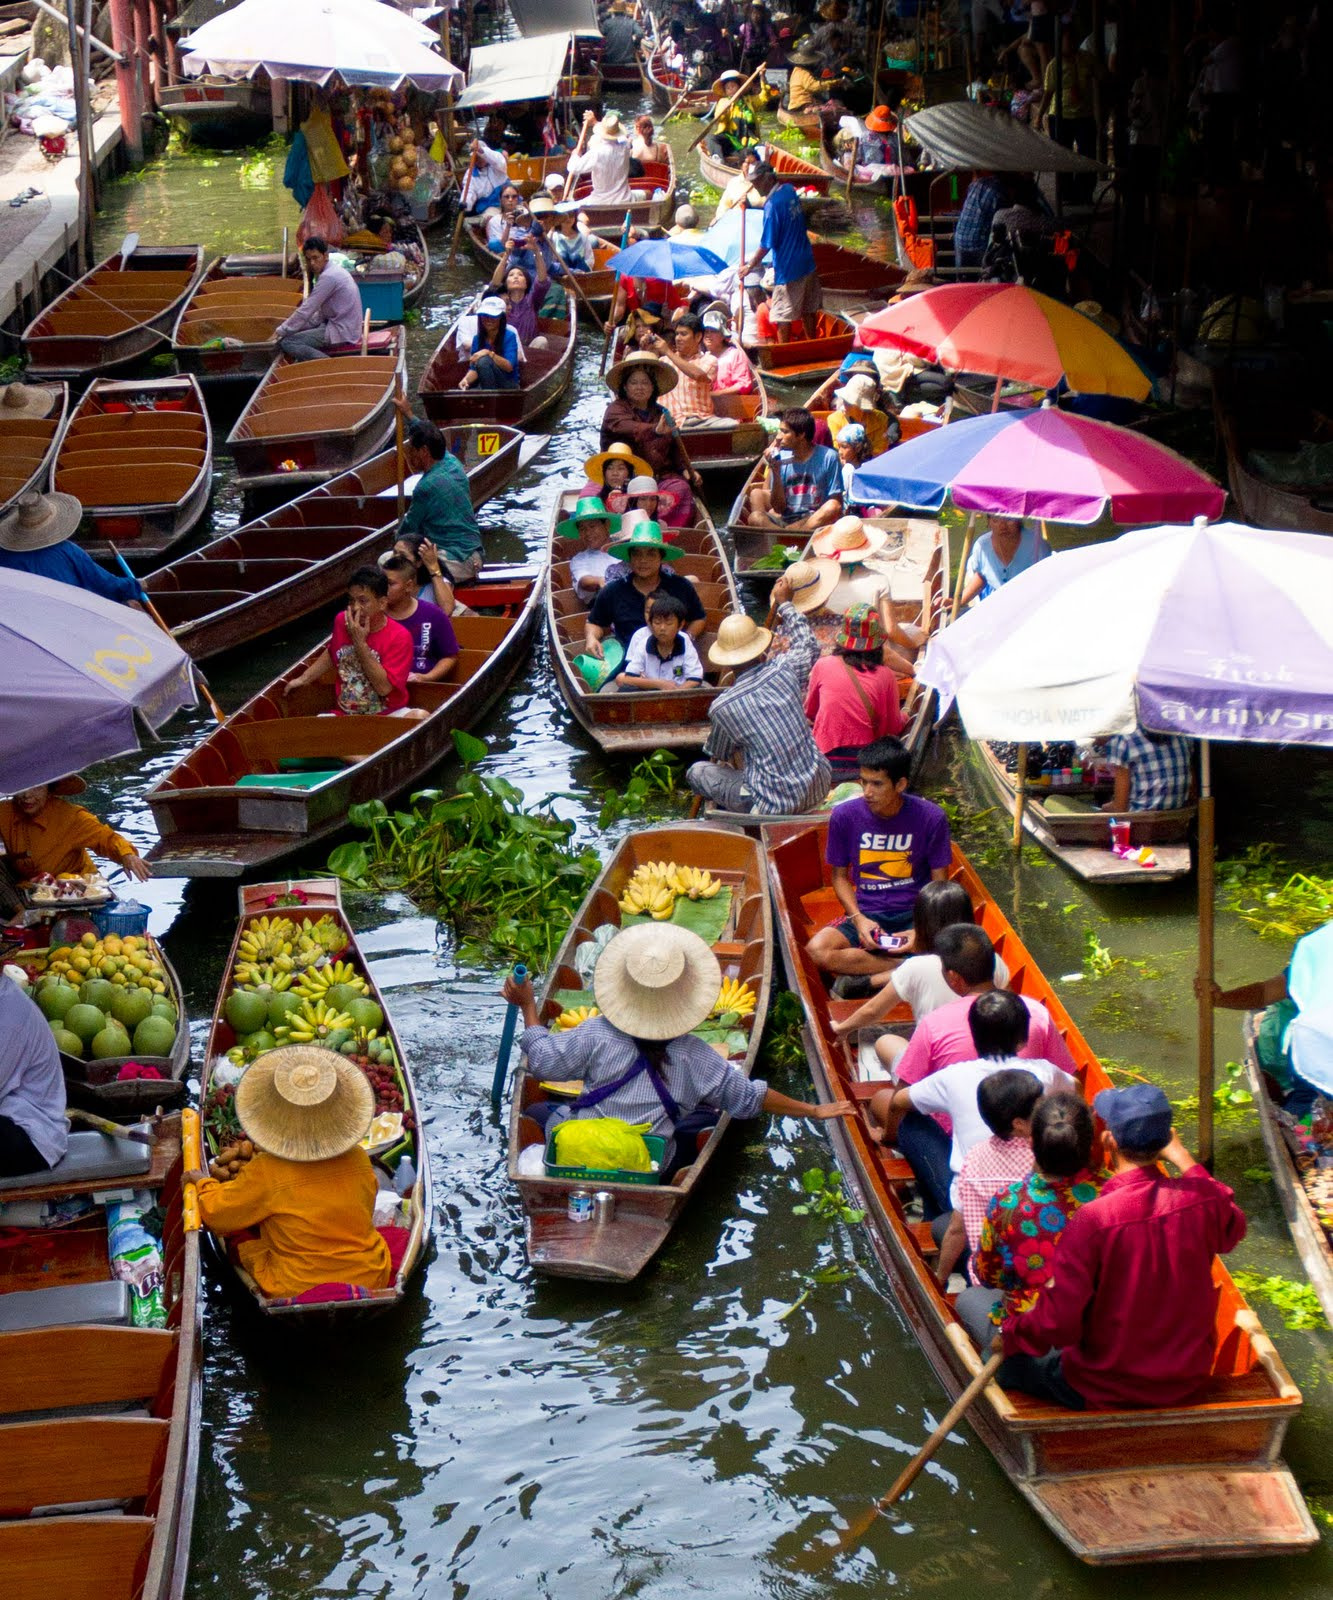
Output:
M859 1002L831 1000L805 954L811 934L840 915L824 862L827 824L797 822L763 830L775 920L787 982L805 1014L805 1046L821 1099L864 1102L880 1085L859 1082L856 1042L831 1034ZM978 922L1008 963L1010 986L1051 1013L1091 1099L1109 1086L1059 997L954 846L952 877L976 907ZM901 1022L911 1024L906 1010ZM864 1120L831 1122L839 1165L867 1211L867 1230L898 1299L949 1400L979 1373L981 1357L954 1315L931 1270L928 1222L906 1211L911 1168L872 1144ZM1080 1560L1199 1560L1277 1555L1312 1547L1319 1534L1279 1451L1301 1410L1301 1390L1247 1307L1221 1261L1218 1344L1213 1378L1192 1405L1127 1411L1066 1411L991 1384L968 1421L1018 1491Z

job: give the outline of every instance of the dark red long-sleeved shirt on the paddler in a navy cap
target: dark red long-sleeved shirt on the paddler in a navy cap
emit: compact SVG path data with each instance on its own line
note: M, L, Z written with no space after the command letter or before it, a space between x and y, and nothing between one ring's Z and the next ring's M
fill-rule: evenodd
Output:
M1243 1237L1245 1213L1202 1166L1117 1173L1069 1218L1050 1285L1005 1323L1005 1354L1063 1350L1090 1406L1191 1400L1213 1370L1213 1258Z

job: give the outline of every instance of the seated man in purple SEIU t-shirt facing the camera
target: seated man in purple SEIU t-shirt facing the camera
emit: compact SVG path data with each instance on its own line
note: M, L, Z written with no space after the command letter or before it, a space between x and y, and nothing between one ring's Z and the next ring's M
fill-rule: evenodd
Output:
M875 739L861 750L861 798L832 810L824 859L847 915L805 947L824 973L869 978L885 971L893 957L885 954L883 936L911 928L917 891L949 874L949 818L907 794L909 766L901 739Z

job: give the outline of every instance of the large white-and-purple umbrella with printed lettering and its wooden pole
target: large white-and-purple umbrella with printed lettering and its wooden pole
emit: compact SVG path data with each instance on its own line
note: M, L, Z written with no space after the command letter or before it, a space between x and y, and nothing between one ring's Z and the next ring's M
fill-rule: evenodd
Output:
M1039 562L943 630L919 677L975 739L1135 723L1200 741L1199 1142L1213 1142L1210 742L1333 747L1333 541L1144 528Z

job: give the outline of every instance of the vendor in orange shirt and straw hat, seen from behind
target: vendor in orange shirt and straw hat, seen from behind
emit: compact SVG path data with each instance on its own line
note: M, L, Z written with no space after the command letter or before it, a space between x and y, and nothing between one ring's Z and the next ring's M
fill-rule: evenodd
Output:
M373 1112L360 1067L315 1045L270 1050L237 1085L253 1157L234 1162L226 1182L202 1171L186 1181L198 1186L198 1214L214 1234L248 1235L234 1254L264 1294L389 1285L389 1246L373 1221L378 1186L360 1142Z

